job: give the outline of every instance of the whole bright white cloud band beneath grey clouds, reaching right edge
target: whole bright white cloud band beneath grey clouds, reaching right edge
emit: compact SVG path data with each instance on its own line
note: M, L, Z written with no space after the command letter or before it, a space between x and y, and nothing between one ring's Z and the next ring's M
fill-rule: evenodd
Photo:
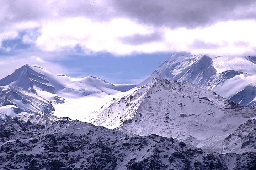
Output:
M92 22L87 18L63 18L42 23L41 35L36 45L44 51L56 51L80 45L93 52L106 51L117 55L129 53L154 53L189 51L213 55L254 53L256 46L256 21L219 22L209 27L195 29L169 29L139 24L129 19L110 22ZM123 37L150 35L160 32L158 41L126 43ZM196 42L200 41L201 43Z

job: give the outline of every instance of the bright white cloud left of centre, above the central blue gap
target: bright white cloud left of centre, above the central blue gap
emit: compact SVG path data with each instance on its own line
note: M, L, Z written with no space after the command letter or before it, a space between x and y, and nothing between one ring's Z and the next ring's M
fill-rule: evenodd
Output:
M113 19L110 22L92 22L87 18L63 18L42 24L41 35L36 40L39 48L46 51L72 48L77 44L94 52L107 51L126 54L134 51L132 45L122 44L119 38L133 34L153 33L129 19Z

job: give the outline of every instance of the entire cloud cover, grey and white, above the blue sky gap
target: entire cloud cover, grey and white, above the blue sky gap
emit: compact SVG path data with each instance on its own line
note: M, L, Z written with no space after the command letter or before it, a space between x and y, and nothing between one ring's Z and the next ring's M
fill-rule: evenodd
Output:
M2 0L0 5L0 43L22 38L40 52L255 52L256 0Z

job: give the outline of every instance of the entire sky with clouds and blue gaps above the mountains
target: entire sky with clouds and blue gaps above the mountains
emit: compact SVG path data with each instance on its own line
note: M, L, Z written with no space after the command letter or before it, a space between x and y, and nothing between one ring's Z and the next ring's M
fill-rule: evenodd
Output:
M138 83L175 52L255 55L256 0L0 0L0 78L24 64Z

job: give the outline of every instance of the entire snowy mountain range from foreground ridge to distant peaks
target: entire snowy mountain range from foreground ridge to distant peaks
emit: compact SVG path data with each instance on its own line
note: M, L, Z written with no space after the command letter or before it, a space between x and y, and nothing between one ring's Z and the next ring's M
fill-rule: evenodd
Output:
M0 80L0 167L254 169L255 80L256 57L186 52L139 84L22 66Z

